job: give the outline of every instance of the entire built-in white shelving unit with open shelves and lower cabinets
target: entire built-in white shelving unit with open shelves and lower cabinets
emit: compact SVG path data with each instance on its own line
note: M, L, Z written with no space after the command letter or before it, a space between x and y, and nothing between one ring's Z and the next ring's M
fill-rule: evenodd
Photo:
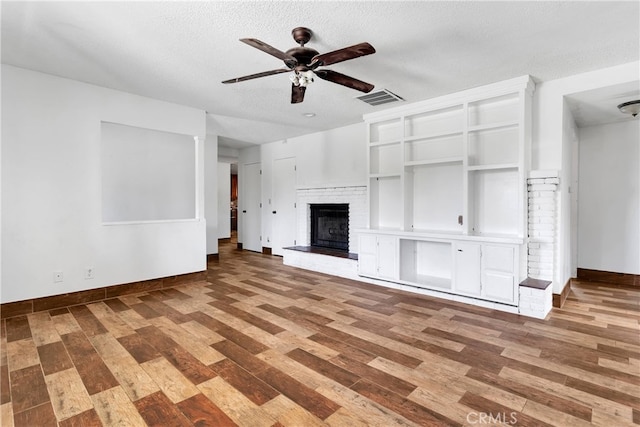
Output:
M517 305L533 87L523 76L365 115L359 274Z

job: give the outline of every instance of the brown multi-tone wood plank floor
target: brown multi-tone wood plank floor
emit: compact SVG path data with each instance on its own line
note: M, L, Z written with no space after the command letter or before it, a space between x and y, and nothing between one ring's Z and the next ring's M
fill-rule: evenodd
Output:
M208 282L2 321L2 426L640 424L640 290L546 320L220 247Z

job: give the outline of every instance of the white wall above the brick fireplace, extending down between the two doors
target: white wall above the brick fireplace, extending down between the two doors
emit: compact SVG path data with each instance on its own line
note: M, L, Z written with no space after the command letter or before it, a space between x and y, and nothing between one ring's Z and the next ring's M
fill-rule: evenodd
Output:
M272 165L277 159L296 158L293 188L356 186L367 183L366 127L344 126L260 146L262 162L262 245L271 247ZM238 179L242 179L239 176Z

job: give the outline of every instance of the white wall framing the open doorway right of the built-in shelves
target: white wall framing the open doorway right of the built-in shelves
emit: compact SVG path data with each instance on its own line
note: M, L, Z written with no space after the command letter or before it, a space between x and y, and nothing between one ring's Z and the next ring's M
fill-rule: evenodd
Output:
M571 171L566 169L572 167L568 156L573 156L571 147L575 141L570 133L567 133L567 128L572 126L573 118L568 118L565 114L565 96L638 81L638 70L640 70L640 62L632 62L551 80L536 86L533 103L531 169L561 171L560 211L558 212L560 239L556 254L554 293L562 291L564 285L572 277L571 262L572 259L575 259L574 254L571 253L571 239L566 232L571 229L577 218L572 217L571 204L566 200L569 197L571 184Z

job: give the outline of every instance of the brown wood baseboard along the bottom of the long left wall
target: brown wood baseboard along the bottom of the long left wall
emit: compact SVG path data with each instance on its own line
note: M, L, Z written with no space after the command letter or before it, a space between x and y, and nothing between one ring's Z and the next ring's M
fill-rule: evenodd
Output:
M90 304L116 298L122 295L157 291L172 288L177 285L202 282L206 280L207 272L198 271L195 273L179 274L177 276L162 277L159 279L143 280L141 282L105 286L103 288L89 289L86 291L8 302L0 304L0 318L7 319L9 317L24 316L26 314L37 313L39 311L55 310L78 304Z

